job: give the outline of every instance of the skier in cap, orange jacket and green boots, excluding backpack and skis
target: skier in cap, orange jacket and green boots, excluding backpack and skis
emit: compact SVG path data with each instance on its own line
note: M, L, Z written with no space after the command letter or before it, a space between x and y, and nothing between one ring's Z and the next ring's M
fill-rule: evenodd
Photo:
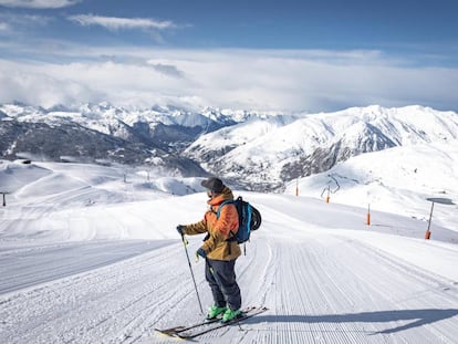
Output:
M196 256L205 258L205 277L208 281L215 304L208 310L207 319L222 314L221 322L229 322L241 315L241 295L236 281L236 260L241 254L236 241L228 240L239 227L237 209L229 204L221 208L219 218L217 211L225 200L232 200L232 190L223 185L221 179L210 177L201 183L207 189L209 209L204 219L192 225L179 225L177 231L181 236L207 232L204 244Z

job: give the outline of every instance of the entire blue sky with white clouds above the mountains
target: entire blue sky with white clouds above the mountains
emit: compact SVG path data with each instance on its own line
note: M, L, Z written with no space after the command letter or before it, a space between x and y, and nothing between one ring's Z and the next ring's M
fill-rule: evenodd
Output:
M457 111L458 3L0 0L0 102Z

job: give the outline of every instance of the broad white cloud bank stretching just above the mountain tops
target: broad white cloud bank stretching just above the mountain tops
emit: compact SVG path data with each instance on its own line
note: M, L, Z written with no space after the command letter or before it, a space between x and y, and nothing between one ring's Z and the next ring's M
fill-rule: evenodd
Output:
M52 58L59 63L0 60L0 84L9 85L0 93L0 102L43 106L103 101L136 106L186 103L308 112L371 104L458 107L456 67L418 66L377 51L66 45L59 52L64 55Z

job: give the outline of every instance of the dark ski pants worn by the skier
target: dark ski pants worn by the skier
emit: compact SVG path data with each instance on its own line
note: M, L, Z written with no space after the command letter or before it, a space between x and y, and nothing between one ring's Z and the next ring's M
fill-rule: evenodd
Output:
M236 260L206 259L205 278L210 284L215 305L238 310L241 306L240 289L236 281Z

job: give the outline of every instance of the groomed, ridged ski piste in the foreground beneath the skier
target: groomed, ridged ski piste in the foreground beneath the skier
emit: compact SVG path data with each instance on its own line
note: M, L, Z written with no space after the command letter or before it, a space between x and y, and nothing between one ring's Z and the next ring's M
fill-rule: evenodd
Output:
M458 315L444 311L457 309L456 283L345 236L280 227L290 218L277 216L253 232L236 265L243 305L269 311L199 341L455 343ZM188 247L191 260L198 246ZM183 251L179 242L2 295L0 342L174 342L153 329L200 317ZM204 261L192 270L202 305L211 304Z

